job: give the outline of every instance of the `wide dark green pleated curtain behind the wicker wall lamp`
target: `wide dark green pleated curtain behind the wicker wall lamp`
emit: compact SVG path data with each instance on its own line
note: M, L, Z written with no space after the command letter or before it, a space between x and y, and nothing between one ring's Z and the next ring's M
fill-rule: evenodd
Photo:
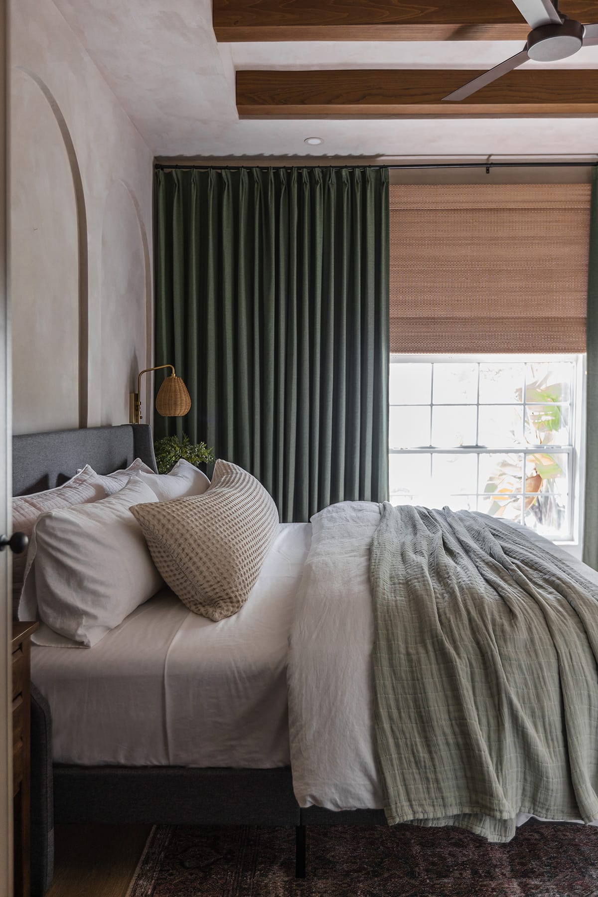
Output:
M156 353L282 520L388 492L388 170L156 171ZM160 387L157 378L156 388Z

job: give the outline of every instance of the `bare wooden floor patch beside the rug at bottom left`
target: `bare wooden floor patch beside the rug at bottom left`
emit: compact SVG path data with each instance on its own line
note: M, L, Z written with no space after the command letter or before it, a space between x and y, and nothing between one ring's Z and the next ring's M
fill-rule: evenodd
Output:
M149 825L57 825L47 897L125 897Z

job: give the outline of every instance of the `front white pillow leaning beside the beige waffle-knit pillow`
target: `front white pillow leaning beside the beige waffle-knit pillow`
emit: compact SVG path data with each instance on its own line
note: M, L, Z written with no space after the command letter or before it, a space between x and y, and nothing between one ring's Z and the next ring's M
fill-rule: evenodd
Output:
M116 495L39 518L19 606L20 620L39 613L46 624L34 633L37 644L91 648L161 588L129 512L140 501L156 496L132 477Z

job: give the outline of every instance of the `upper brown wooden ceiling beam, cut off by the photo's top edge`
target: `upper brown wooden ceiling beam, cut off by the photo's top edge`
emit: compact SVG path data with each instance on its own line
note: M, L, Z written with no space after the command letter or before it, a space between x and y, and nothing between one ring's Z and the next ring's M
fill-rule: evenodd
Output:
M562 0L562 13L598 22L595 0ZM212 0L216 39L524 40L512 0Z

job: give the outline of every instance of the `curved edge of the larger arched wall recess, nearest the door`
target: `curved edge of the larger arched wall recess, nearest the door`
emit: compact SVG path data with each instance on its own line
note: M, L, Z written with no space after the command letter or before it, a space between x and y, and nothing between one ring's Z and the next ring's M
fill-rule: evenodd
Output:
M77 236L79 256L79 427L84 429L88 422L88 374L89 374L89 283L88 283L88 245L87 245L87 213L85 211L85 196L79 161L74 150L73 138L68 129L65 117L48 84L46 84L35 72L21 65L18 69L30 77L31 81L39 87L48 105L56 118L56 124L60 129L65 142L66 156L71 167L73 177L74 200L77 210Z

